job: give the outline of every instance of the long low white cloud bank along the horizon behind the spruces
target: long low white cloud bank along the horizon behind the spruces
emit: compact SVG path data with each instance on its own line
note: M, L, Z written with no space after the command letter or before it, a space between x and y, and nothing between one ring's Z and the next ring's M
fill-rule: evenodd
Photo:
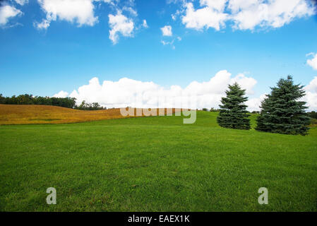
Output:
M232 76L226 70L219 71L209 81L191 82L186 88L172 85L164 88L153 82L121 78L119 81L103 81L92 78L88 85L82 85L69 95L78 103L99 102L107 107L218 107L228 84L238 82L251 95L256 80L244 74ZM194 101L193 101L194 100Z

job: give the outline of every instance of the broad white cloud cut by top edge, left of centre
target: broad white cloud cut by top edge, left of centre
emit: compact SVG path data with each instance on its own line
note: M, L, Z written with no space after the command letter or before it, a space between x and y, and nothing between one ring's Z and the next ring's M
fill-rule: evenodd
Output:
M46 13L46 20L35 23L37 28L48 28L52 20L66 20L70 23L95 25L98 18L94 15L94 0L37 0Z

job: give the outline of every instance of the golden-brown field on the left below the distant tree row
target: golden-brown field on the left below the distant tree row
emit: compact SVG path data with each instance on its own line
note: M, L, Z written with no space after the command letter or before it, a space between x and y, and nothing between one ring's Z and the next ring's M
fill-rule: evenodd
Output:
M179 109L172 109L172 112ZM136 112L136 109L135 109ZM158 112L158 109L157 109ZM167 109L165 109L165 114ZM131 116L128 116L131 117ZM144 117L144 115L143 115ZM83 111L48 105L0 105L0 125L64 124L104 119L122 119L120 109Z

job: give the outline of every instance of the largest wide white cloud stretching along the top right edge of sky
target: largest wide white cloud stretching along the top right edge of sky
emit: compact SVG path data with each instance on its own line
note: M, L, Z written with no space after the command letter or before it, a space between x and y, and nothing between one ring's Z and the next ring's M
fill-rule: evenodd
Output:
M280 28L295 18L315 13L306 0L200 0L198 8L191 2L181 2L184 12L181 21L186 28L195 30L220 30L227 21L239 30ZM172 15L173 20L177 13Z

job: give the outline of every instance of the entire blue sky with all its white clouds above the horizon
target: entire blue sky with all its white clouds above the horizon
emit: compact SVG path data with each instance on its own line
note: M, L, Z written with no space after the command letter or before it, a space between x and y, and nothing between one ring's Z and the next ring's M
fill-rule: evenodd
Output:
M0 93L217 108L238 82L257 110L291 74L317 110L316 37L316 1L0 0Z

